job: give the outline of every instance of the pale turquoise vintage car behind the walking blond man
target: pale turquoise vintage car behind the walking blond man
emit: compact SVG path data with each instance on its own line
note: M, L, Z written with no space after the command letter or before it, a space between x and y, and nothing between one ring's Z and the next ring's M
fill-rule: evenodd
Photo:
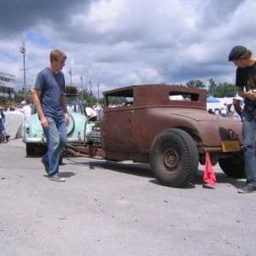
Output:
M67 95L67 112L70 117L70 125L67 126L67 143L83 143L85 134L90 132L94 122L88 121L84 115L82 103L77 96ZM86 131L84 132L84 127ZM41 123L38 119L37 109L32 107L30 119L25 121L23 128L23 143L26 143L26 155L36 153L37 147L46 148L46 138ZM61 151L60 163L63 158L64 148Z

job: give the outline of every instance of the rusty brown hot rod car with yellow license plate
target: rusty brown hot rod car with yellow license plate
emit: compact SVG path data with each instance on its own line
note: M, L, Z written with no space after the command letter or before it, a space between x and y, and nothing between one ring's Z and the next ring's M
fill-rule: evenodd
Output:
M104 116L73 152L150 163L160 183L180 187L205 165L206 152L230 177L244 177L241 122L207 113L207 90L166 84L103 92ZM109 108L115 99L125 104ZM85 125L86 127L86 125Z

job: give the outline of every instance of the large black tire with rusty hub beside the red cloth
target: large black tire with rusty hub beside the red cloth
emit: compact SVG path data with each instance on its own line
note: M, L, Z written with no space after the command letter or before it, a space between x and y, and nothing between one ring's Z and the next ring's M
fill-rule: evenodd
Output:
M157 180L170 187L189 183L198 170L199 154L190 135L179 129L161 131L151 145L149 161Z

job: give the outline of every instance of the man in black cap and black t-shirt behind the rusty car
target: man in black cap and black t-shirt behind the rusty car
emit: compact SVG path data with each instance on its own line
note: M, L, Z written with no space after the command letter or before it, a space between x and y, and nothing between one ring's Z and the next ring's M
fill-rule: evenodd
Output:
M229 61L236 68L236 86L238 95L244 98L242 110L242 138L244 165L247 185L238 192L256 192L256 57L250 49L237 45L230 51ZM245 89L245 91L244 91Z

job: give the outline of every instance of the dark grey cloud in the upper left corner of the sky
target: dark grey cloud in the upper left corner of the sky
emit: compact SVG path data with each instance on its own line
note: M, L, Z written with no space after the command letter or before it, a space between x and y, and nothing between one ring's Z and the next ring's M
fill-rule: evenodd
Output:
M2 0L0 9L0 34L26 32L45 20L55 21L55 25L67 24L71 14L90 8L93 0Z

